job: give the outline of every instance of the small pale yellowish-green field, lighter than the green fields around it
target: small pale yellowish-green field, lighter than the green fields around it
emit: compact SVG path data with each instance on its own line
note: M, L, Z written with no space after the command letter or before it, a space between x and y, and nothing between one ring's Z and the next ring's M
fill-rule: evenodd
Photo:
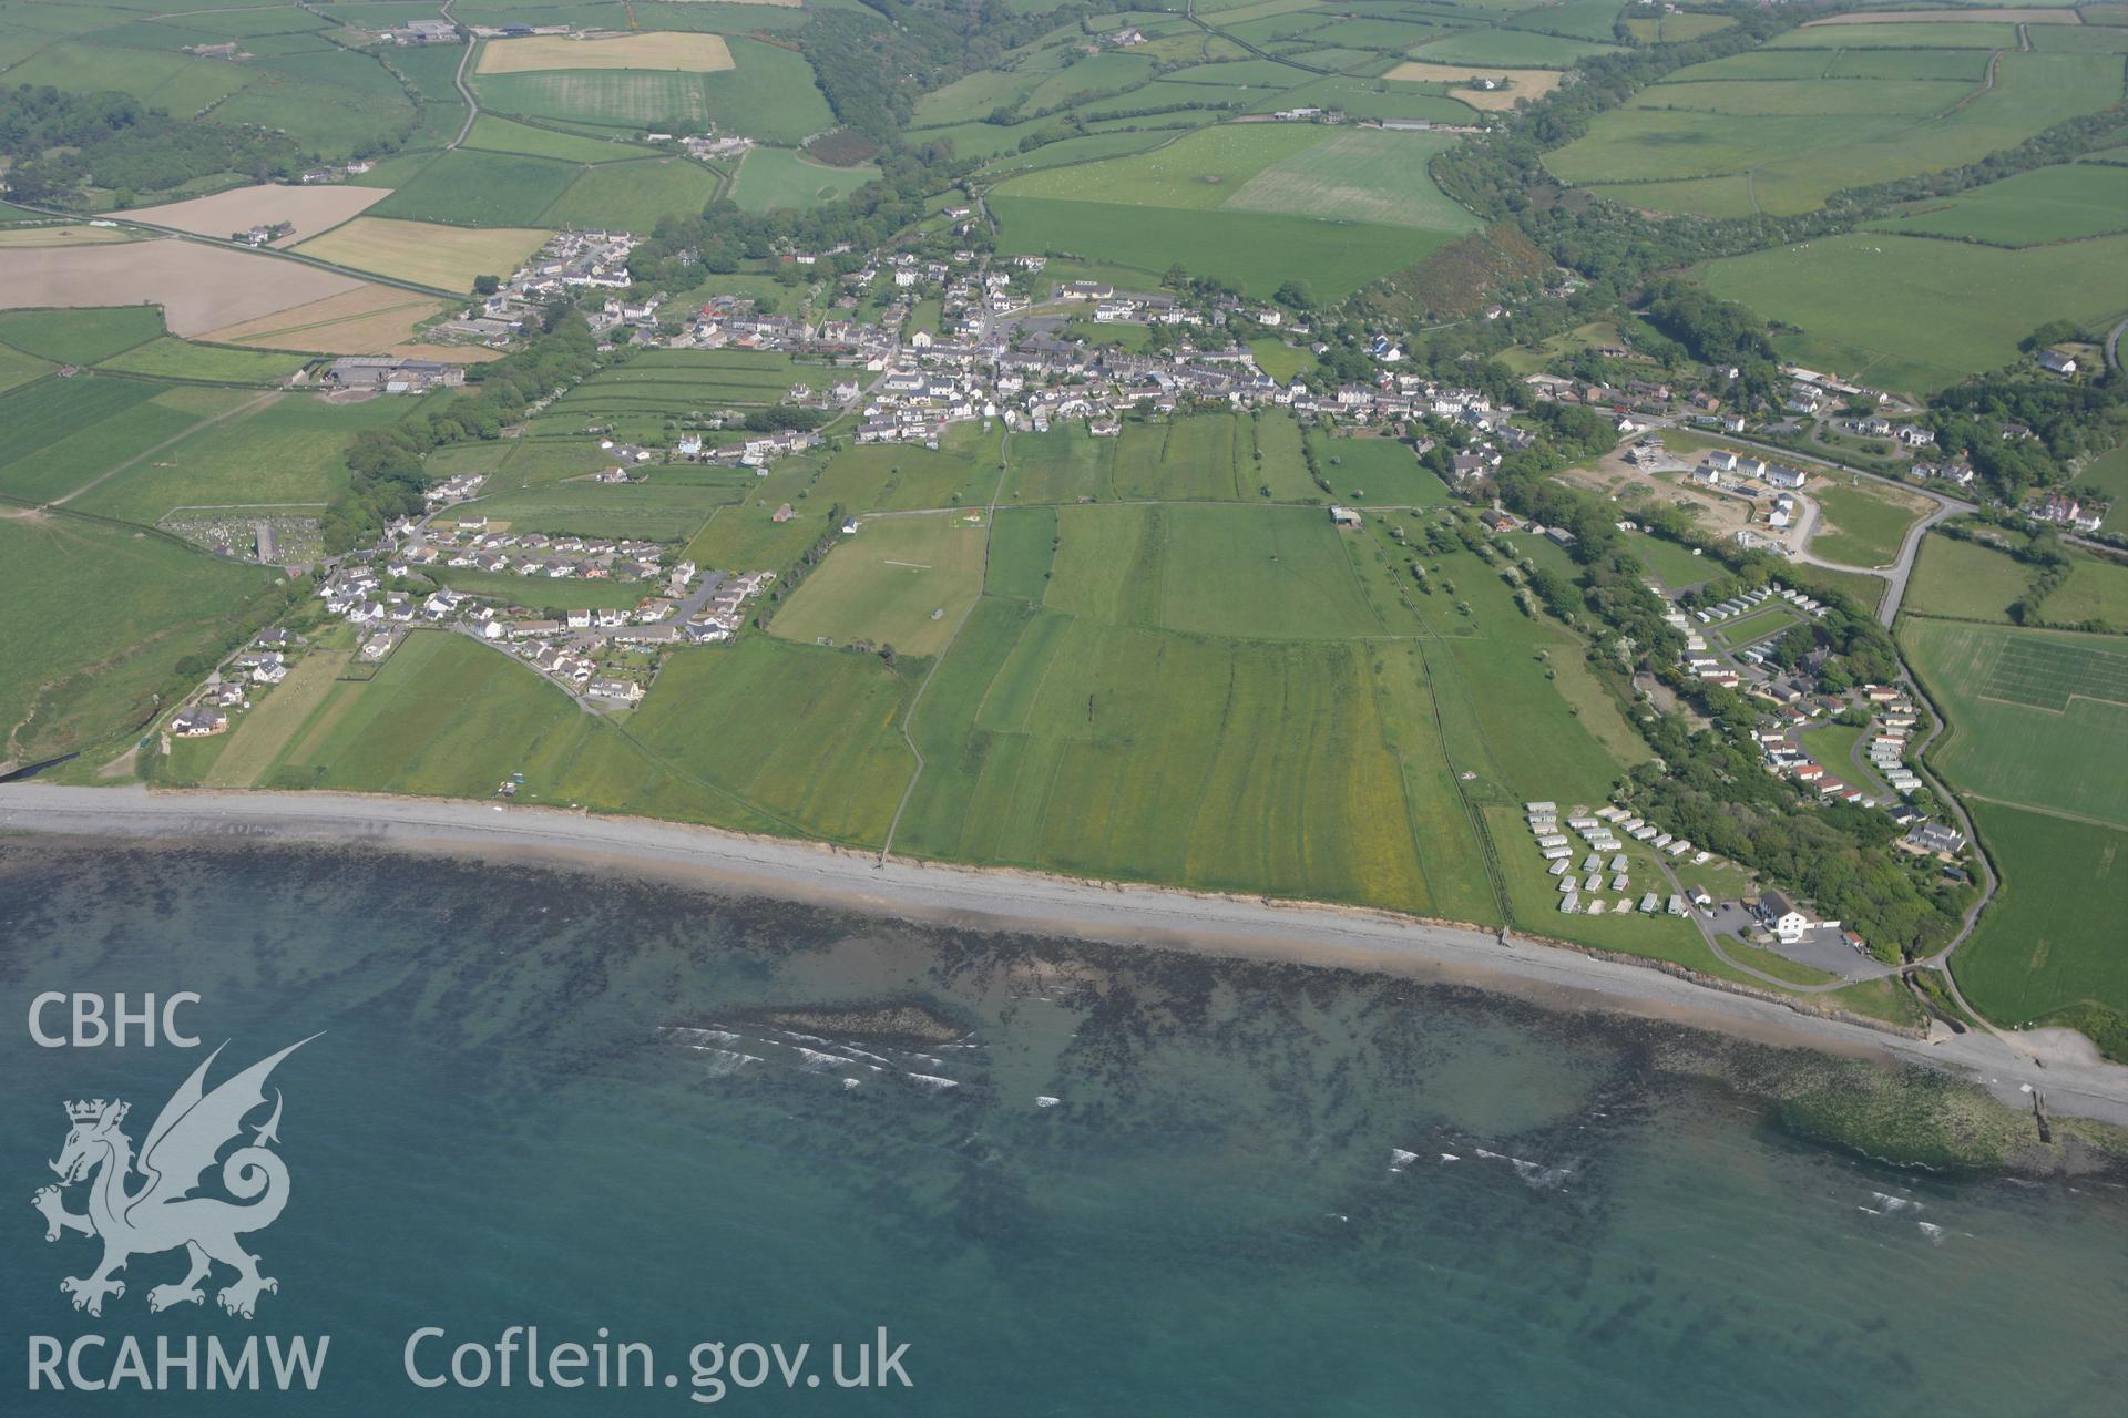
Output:
M983 589L985 534L975 512L868 519L807 576L770 627L785 640L870 640L902 655L938 655Z

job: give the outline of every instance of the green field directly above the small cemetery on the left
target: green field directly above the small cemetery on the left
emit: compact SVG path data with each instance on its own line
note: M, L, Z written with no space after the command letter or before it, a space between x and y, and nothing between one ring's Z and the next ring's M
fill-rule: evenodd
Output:
M134 463L81 497L81 510L155 523L179 506L321 506L347 487L347 440L404 412L392 400L283 393Z

